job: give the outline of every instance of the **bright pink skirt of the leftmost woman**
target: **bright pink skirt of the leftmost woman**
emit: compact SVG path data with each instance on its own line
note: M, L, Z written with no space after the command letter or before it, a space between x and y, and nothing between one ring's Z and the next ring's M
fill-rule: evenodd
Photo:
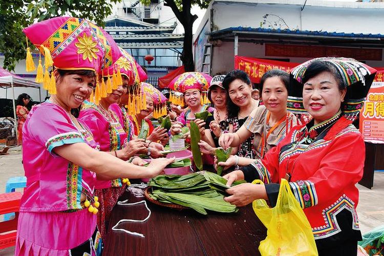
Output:
M96 215L88 209L75 212L20 212L15 255L71 255L71 249L80 245L83 247L82 244L88 242L92 245L88 246L90 255L97 255L101 249L101 239L95 230Z

